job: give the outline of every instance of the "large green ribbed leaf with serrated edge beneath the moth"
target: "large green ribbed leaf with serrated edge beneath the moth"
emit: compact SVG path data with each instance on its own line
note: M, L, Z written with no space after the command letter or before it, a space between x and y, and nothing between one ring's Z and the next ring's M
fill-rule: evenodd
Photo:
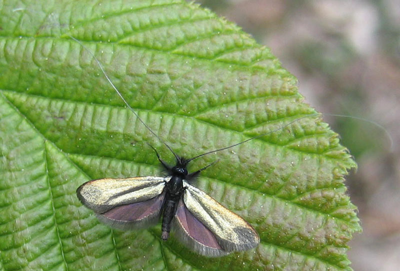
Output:
M190 165L219 160L197 186L253 225L256 249L209 259L159 225L100 224L80 184L162 174L146 142L173 156L69 36L185 157L315 113L269 49L193 3L0 1L0 270L351 270L355 163L315 115Z

